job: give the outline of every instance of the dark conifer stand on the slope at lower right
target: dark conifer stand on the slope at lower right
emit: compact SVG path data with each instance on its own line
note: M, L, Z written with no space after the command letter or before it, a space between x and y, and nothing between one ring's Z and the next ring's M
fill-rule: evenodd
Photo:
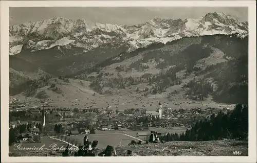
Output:
M248 138L248 106L237 104L233 111L211 115L210 120L196 122L190 130L178 135L170 134L160 136L163 141L212 141L222 138L247 139Z

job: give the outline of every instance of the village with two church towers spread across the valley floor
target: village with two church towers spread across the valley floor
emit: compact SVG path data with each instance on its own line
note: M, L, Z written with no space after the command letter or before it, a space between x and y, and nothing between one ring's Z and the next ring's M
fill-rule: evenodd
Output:
M49 104L26 108L24 103L12 99L9 104L9 129L23 126L23 129L19 128L20 133L17 135L20 142L29 140L39 142L39 136L42 134L94 134L96 130L122 129L149 131L150 127L190 129L198 120L210 119L211 115L216 116L221 110L215 108L176 110L162 107L160 101L156 103L158 104L156 111L149 111L145 108L120 111L110 109L109 106L106 108L59 108L51 107ZM222 111L226 113L229 108L223 108ZM138 132L137 136L146 136L147 133ZM167 133L160 132L160 134Z

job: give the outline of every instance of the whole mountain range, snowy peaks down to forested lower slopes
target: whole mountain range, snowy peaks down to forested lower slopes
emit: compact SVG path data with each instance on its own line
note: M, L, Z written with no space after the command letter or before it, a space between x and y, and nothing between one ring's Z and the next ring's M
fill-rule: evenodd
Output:
M126 94L135 89L142 96L167 97L176 88L179 97L212 94L219 102L247 101L248 22L225 13L185 20L153 18L134 26L53 18L10 26L9 32L11 95L29 90L26 96L35 96L51 77L59 77L87 81L81 91L101 95L118 88ZM206 90L198 88L197 81L188 85L200 78L212 87L203 83ZM59 85L63 92L70 91L63 85L72 82Z

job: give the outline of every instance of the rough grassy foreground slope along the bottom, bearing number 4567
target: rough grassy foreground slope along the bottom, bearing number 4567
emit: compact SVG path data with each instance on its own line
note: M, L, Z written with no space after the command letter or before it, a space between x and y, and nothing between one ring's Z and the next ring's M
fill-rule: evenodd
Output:
M103 149L97 149L100 153ZM117 156L126 156L127 150L133 156L248 156L248 142L222 140L207 142L167 142L164 144L143 144L134 146L117 146ZM234 151L241 151L234 155ZM51 156L48 151L48 156ZM26 153L10 153L10 156L43 156L46 151L27 151ZM54 156L62 156L57 152Z

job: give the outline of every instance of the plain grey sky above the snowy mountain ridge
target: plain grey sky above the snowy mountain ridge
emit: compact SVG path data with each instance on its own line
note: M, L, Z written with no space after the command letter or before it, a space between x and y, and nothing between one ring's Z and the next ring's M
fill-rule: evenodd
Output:
M248 21L247 7L12 7L10 25L54 17L109 24L135 25L158 18L199 18L208 12L224 12L241 21Z

